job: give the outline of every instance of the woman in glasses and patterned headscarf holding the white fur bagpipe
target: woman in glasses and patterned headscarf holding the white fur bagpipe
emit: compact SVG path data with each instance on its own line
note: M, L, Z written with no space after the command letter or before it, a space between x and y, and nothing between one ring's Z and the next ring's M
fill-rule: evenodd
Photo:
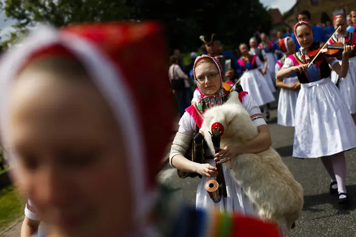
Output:
M230 158L235 157L236 154L257 153L269 148L272 143L270 130L262 117L256 101L247 92L242 91L239 93L239 98L253 122L258 126L258 136L251 140L247 146L227 146L217 151L215 155L211 154L209 149L204 149L204 157L201 162L187 159L185 155L189 150L193 137L199 133L204 112L209 108L224 104L230 94L229 91L223 88L224 73L218 60L207 55L198 56L193 69L194 80L203 97L196 104L186 109L185 114L179 122L180 127L173 140L169 155L170 164L180 171L196 173L196 175L201 177L196 195L197 208L211 209L216 207L220 211L227 210L229 212L254 215L254 210L249 200L245 198L241 187L230 176L230 170L223 166L220 167L221 171L219 173L219 167L217 168L216 166L231 161ZM213 200L214 198L210 198L204 186L207 181L217 178L219 180L219 175L224 181L222 184L223 197L219 192L220 200Z

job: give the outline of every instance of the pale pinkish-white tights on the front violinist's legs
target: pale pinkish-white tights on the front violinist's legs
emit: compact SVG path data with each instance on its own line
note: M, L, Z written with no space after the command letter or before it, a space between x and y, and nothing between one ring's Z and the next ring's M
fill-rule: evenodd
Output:
M321 162L330 175L332 182L338 183L338 192L346 193L346 159L344 152L321 157ZM343 198L344 196L340 196Z

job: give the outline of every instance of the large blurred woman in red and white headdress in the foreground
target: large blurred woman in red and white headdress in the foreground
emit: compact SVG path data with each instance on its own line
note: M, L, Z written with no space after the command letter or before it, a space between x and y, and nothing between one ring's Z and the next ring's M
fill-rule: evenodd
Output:
M46 236L196 230L176 216L198 211L155 185L173 121L163 45L156 23L87 24L38 29L3 58L2 141Z

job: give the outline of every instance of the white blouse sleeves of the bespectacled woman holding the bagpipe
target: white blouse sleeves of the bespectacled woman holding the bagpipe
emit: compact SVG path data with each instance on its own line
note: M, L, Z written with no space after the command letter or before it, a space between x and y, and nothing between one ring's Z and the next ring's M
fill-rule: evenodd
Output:
M253 123L256 126L266 125L262 117L261 110L257 106L256 101L252 98L251 95L246 94L242 99L242 105L245 107L247 112L249 113ZM179 121L179 129L178 132L186 134L187 136L193 136L196 131L196 123L188 112L185 112Z

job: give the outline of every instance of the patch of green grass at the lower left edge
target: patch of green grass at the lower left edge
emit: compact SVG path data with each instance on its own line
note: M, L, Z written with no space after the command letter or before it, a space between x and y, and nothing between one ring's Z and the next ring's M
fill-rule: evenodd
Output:
M0 190L0 232L24 216L24 201L12 185Z

